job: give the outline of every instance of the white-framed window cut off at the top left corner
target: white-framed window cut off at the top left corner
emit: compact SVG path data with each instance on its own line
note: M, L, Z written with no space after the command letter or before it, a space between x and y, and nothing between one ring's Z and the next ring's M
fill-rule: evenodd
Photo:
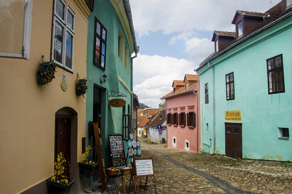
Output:
M32 0L1 1L0 56L29 60Z

